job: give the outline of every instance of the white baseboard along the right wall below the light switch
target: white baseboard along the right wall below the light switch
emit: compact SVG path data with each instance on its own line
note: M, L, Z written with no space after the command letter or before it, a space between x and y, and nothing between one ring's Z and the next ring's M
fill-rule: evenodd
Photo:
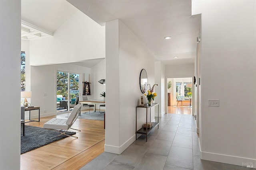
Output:
M256 169L256 159L243 158L243 157L224 155L224 154L216 154L211 152L203 152L201 150L200 140L199 140L199 148L201 153L200 158L203 160L210 160L214 162L221 162L225 164L233 164L233 165Z

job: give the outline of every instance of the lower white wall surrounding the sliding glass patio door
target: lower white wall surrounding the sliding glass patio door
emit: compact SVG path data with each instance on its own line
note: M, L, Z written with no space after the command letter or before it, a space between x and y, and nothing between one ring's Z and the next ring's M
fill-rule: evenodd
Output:
M40 106L40 117L56 115L57 70L80 74L80 99L83 93L83 74L85 74L85 81L90 80L91 69L83 66L74 64L31 66L31 104L32 106Z

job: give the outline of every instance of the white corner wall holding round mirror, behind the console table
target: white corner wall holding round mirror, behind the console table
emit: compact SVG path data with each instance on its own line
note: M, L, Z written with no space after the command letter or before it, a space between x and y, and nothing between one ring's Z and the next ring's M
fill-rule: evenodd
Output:
M142 68L148 83L154 84L153 53L120 20L107 22L106 94L111 96L106 96L106 152L120 154L135 140ZM138 125L146 121L145 113L145 109L138 111Z

